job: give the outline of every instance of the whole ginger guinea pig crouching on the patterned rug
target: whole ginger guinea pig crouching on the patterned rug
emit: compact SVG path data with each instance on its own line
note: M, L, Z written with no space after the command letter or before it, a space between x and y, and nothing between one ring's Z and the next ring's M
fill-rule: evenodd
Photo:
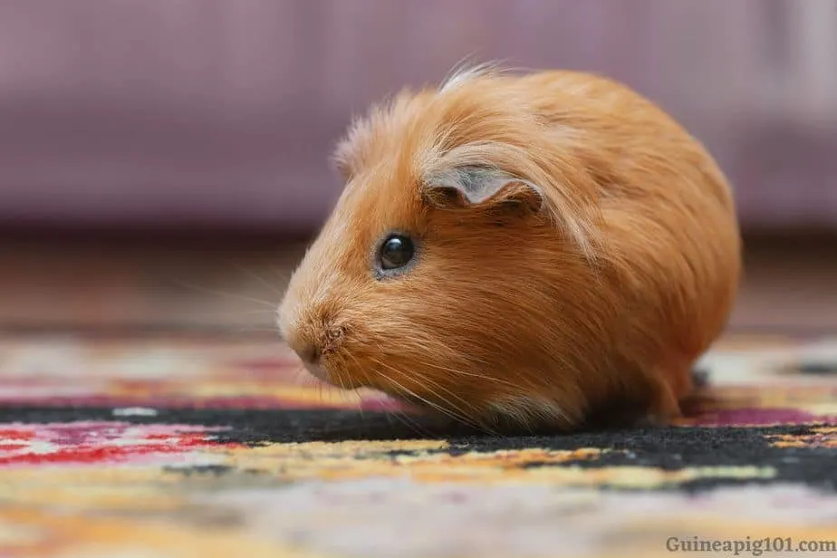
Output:
M478 67L374 107L335 159L279 308L314 376L482 428L678 417L741 247L722 171L655 104Z

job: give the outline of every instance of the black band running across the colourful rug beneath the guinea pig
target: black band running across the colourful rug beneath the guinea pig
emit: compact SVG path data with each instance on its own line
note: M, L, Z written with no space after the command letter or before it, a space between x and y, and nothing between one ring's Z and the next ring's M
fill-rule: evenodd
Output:
M114 417L104 408L0 409L2 423L49 423L82 420L127 421L134 424L182 424L224 427L217 442L259 446L268 443L305 443L399 439L443 439L440 450L384 452L390 457L443 453L490 453L501 450L601 450L596 457L560 462L532 461L520 467L649 467L676 473L696 467L716 468L718 475L698 480L672 479L670 489L697 491L715 486L804 483L837 489L837 447L813 443L774 444L794 438L816 438L814 425L759 428L669 427L589 430L572 434L489 435L471 428L434 427L418 418L382 412L344 410L159 409L154 417ZM413 424L415 421L415 424ZM376 457L380 458L380 457ZM752 467L754 474L736 476L731 467ZM223 468L223 467L222 467ZM181 473L223 474L224 470L198 469ZM257 473L257 472L256 472ZM606 484L606 483L605 483ZM607 487L607 486L604 486Z

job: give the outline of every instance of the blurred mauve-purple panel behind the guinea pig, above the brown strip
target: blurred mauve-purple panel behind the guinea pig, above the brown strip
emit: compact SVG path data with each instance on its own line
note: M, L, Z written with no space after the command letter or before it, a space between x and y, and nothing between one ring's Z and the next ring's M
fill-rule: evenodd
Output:
M468 54L629 82L747 225L837 228L832 0L0 0L0 222L318 226L351 115Z

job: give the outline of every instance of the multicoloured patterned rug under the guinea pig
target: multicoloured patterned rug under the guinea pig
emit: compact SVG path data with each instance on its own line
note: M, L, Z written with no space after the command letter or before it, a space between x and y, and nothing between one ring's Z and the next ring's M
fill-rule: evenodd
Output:
M0 556L837 556L837 337L730 337L672 428L432 432L278 342L0 341Z

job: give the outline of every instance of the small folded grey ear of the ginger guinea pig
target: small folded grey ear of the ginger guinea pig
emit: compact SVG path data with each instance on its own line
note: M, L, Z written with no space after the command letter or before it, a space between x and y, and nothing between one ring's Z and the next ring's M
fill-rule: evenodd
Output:
M428 201L441 208L515 207L537 213L544 205L541 189L502 170L461 167L428 181Z

